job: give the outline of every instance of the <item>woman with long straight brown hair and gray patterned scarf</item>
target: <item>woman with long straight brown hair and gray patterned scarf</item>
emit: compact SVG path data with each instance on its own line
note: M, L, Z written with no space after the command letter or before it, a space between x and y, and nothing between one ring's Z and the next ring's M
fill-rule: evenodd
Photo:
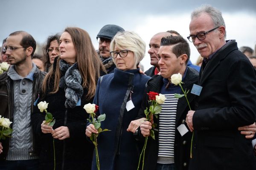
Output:
M60 57L44 79L38 101L49 103L47 111L55 125L45 125L45 114L37 107L32 115L33 130L41 142L40 169L54 167L54 138L56 170L90 170L93 145L84 134L89 114L83 106L93 102L96 82L105 68L83 29L66 28L59 42Z

